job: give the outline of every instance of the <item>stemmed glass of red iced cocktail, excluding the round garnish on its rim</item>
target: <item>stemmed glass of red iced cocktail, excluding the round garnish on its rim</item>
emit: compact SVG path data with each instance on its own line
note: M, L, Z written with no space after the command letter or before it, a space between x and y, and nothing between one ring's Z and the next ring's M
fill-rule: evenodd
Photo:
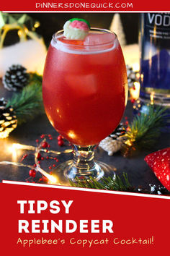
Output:
M63 184L112 173L94 161L94 149L120 123L127 101L127 72L115 33L91 28L85 40L53 35L42 95L50 123L73 145L73 160L56 168ZM113 174L113 173L112 173Z

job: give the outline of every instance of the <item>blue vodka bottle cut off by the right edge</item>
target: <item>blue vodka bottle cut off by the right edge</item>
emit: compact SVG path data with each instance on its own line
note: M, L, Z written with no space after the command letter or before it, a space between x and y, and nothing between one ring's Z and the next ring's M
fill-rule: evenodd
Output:
M140 25L140 96L170 93L170 14L141 14Z

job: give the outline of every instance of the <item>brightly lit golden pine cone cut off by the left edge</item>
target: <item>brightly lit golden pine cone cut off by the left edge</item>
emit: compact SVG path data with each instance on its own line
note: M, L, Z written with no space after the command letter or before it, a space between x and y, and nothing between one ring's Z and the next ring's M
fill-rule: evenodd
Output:
M9 136L17 127L17 116L14 114L12 106L6 108L7 101L4 98L0 99L0 139Z

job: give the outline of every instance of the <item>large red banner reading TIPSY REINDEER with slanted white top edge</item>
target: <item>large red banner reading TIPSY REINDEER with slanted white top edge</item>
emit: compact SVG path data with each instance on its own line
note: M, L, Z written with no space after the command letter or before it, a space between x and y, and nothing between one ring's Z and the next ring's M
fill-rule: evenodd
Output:
M170 197L24 182L0 184L0 192L5 255L169 250Z

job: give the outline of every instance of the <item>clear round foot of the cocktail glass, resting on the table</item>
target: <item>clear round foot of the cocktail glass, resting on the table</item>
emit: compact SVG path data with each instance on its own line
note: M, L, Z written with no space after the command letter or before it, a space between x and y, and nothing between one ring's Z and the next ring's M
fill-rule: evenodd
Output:
M53 176L56 177L58 184L69 186L71 179L72 182L76 182L76 179L82 179L82 181L89 180L90 177L99 181L101 178L111 176L115 179L116 168L109 166L106 163L100 161L95 161L93 168L80 172L77 170L73 164L72 160L61 163L57 168L53 169Z

